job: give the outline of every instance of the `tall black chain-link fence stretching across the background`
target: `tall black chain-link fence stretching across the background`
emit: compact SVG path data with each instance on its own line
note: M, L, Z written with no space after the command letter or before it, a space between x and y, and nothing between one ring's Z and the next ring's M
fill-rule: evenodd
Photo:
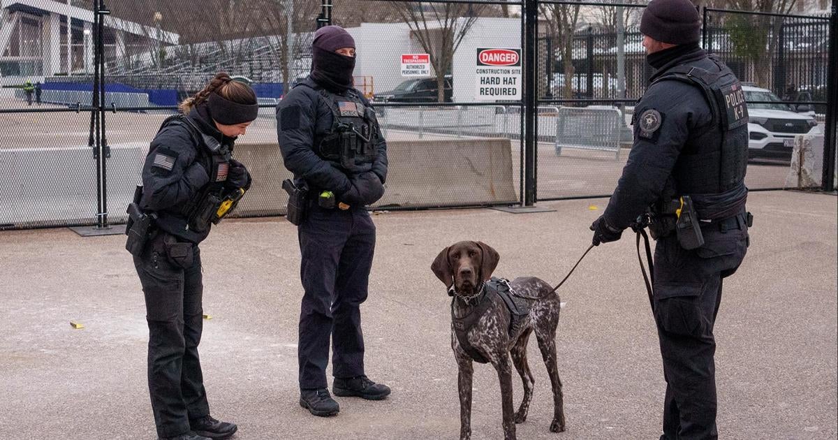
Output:
M520 63L525 4L538 16L532 97L520 85L527 80ZM235 151L256 177L238 215L284 214L280 183L287 170L274 107L308 75L313 33L327 20L353 35L355 86L374 101L390 144L391 182L378 209L520 203L527 154L534 156L536 199L608 195L629 156L634 102L653 74L639 33L642 4L109 0L106 6L101 56L113 222L125 220L160 123L220 70L252 80L261 104ZM103 214L96 212L90 128L93 8L93 0L3 3L0 119L8 141L0 168L14 176L19 195L0 229L91 224ZM782 188L794 138L825 126L829 18L706 8L702 20L703 47L748 83L747 184ZM517 73L510 74L512 63L498 78L486 75L498 66L484 63L482 54L517 56ZM537 128L528 153L523 127L530 98ZM823 155L816 138L810 145Z

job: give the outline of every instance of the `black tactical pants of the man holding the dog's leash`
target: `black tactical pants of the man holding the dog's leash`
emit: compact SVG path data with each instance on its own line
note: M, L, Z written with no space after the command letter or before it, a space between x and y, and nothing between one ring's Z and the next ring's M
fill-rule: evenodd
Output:
M716 340L713 324L722 279L736 272L748 246L744 216L731 230L701 228L705 245L685 251L675 234L654 250L654 320L664 361L661 440L715 439Z

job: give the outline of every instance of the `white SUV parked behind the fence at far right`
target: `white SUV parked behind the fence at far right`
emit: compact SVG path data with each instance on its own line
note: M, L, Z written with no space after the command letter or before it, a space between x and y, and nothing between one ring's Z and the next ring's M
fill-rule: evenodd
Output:
M748 152L751 157L789 158L795 136L819 130L814 116L795 112L792 106L784 104L768 89L742 85L742 91L745 92L747 113L750 116L747 132ZM771 103L752 104L751 101Z

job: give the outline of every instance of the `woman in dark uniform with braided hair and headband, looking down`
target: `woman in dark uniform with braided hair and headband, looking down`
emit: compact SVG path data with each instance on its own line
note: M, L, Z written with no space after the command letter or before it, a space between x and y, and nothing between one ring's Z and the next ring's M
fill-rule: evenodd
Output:
M181 111L151 143L138 200L155 219L134 255L146 300L148 388L160 438L226 438L237 427L209 415L198 358L204 291L198 245L221 206L230 208L250 187L250 174L231 154L258 106L249 85L221 72Z

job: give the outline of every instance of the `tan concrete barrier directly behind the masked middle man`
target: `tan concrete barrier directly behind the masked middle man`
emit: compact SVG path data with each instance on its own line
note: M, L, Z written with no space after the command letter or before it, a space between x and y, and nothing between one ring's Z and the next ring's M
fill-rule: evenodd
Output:
M512 146L508 139L387 142L390 169L384 197L373 208L515 203ZM282 165L277 144L242 144L235 158L253 184L236 215L285 215Z

